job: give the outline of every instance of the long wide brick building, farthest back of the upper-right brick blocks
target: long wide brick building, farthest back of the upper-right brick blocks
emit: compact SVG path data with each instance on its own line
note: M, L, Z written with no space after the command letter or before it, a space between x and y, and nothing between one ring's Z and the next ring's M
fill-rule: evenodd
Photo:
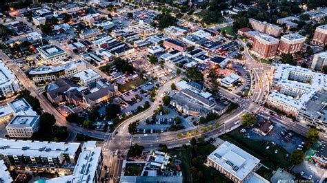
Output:
M248 19L250 21L250 24L252 25L252 28L254 30L264 32L270 36L278 37L281 34L281 31L283 28L273 25L271 23L267 23L266 21L261 22L257 21L256 19Z

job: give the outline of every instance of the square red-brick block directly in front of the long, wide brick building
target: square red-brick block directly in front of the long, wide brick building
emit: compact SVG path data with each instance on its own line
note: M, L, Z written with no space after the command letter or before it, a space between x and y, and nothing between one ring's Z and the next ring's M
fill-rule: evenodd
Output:
M262 58L275 56L278 48L279 39L275 39L268 34L255 35L252 50L259 54Z

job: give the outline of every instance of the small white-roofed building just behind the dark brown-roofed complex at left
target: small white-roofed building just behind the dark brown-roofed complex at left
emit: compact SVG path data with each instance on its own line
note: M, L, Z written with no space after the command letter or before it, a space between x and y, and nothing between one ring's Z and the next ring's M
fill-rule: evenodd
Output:
M82 86L96 82L102 78L100 74L92 69L85 69L81 72L77 72L77 74L72 77L73 80L77 80L77 83Z

